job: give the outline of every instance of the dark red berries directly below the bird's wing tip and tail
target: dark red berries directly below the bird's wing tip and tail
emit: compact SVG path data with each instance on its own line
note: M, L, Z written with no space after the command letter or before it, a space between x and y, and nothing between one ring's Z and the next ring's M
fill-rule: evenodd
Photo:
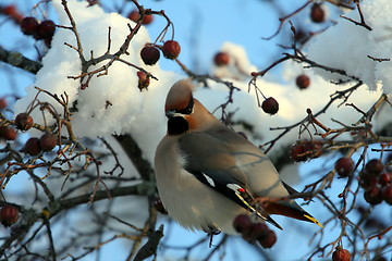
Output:
M246 214L238 214L233 221L233 226L245 240L249 243L257 240L264 248L271 248L277 243L273 231L265 223L253 223Z

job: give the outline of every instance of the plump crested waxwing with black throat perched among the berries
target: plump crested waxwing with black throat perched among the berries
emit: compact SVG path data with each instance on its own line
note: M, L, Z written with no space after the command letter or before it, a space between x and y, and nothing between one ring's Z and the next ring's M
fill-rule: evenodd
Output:
M235 235L238 214L282 227L280 214L313 222L315 217L289 197L270 159L243 135L221 123L196 98L191 79L170 88L164 112L167 134L155 154L158 195L169 215L191 231ZM260 204L257 198L271 199ZM275 200L272 200L275 199Z

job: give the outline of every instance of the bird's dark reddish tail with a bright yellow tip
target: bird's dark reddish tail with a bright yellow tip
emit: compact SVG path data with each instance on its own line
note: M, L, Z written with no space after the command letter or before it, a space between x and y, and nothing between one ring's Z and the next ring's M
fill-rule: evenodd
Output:
M320 227L323 227L318 220L303 210L303 208L301 208L294 200L268 202L264 207L268 214L285 215L296 220L311 222Z

